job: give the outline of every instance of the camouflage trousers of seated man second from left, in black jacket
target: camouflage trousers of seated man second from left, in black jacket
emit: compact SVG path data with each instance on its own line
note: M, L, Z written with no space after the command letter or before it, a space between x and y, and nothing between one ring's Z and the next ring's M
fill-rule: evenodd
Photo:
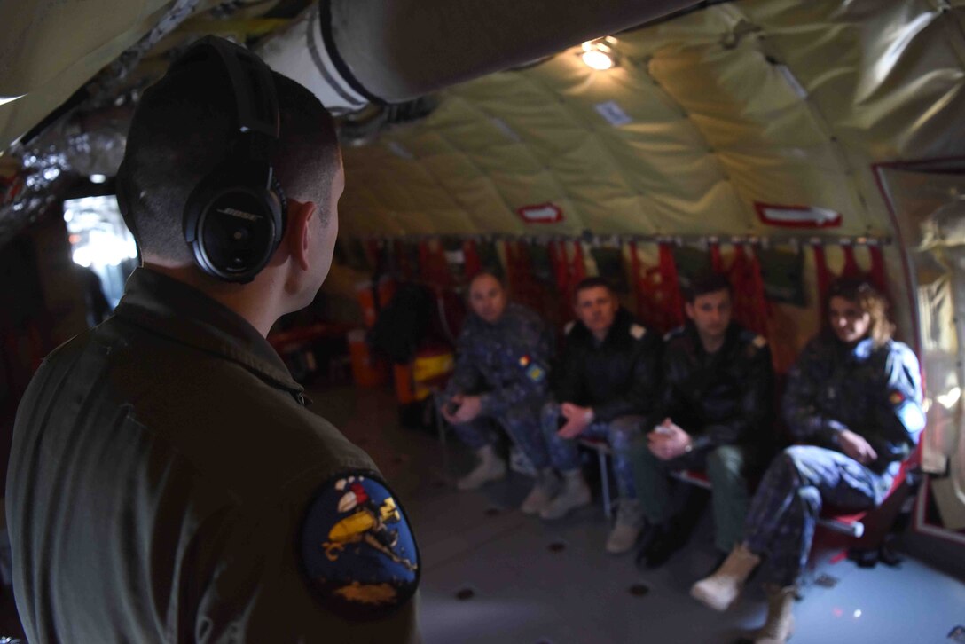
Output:
M576 440L562 438L557 435L559 430L560 405L547 403L542 409L542 432L549 449L549 458L553 466L560 471L572 471L580 467L580 455ZM604 438L613 450L613 471L617 479L617 494L620 498L636 498L633 487L633 469L627 454L630 445L641 433L644 422L643 416L620 416L612 421L591 423L580 437Z

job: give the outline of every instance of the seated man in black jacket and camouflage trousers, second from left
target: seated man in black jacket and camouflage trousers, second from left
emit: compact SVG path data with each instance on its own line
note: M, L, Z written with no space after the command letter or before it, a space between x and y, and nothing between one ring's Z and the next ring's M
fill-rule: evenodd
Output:
M542 428L553 465L563 473L563 490L545 506L542 518L561 518L590 502L580 471L575 438L606 438L614 451L619 510L606 549L625 552L640 534L642 518L626 450L640 434L657 392L660 337L620 308L605 280L577 285L578 322L566 329L566 345L553 393L543 407ZM564 423L561 427L561 423ZM550 493L553 481L543 482Z

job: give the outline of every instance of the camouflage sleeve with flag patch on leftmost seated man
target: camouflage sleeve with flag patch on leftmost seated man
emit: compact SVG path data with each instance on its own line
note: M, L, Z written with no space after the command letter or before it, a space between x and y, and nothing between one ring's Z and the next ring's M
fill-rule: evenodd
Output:
M505 356L511 361L507 365L510 378L480 396L481 412L487 416L534 399L542 401L549 391L552 336L542 321L523 323L517 331L519 342L513 353Z

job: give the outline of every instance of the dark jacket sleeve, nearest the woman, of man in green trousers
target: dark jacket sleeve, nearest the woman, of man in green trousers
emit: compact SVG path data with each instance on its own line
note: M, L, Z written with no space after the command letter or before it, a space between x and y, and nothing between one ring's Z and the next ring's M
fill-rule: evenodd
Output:
M748 360L749 364L737 413L729 420L707 425L703 434L693 439L694 449L738 443L762 446L770 442L764 433L772 424L774 371L771 350L758 336L742 349L741 359Z

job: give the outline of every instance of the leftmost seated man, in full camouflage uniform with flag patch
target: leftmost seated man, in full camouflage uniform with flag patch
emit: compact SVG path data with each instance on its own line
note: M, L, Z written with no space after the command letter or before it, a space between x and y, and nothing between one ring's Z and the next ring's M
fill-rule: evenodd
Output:
M502 281L489 271L470 282L469 307L442 406L456 435L480 459L476 469L459 479L459 490L476 490L506 476L506 463L494 448L493 422L510 434L534 467L549 467L539 407L549 391L552 333L536 313L509 302ZM537 512L533 503L532 498L524 501L523 511Z

